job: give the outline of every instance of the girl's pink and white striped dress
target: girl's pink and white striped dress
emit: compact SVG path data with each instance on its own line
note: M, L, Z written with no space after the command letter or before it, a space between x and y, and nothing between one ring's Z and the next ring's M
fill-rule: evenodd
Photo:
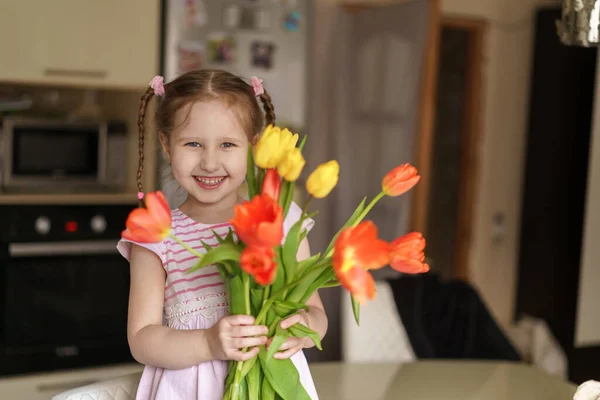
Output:
M180 240L199 252L204 252L200 240L211 246L217 246L212 231L225 237L230 224L206 225L196 222L181 212L172 210L172 232ZM287 234L301 215L300 207L292 203L286 220L284 233ZM311 229L314 221L307 220L304 226ZM129 260L131 241L121 239L117 248ZM207 329L219 319L229 314L226 287L217 267L208 266L191 274L191 268L197 258L171 238L161 243L136 243L158 255L167 273L165 282L163 324L174 329ZM292 357L298 369L300 382L312 400L317 400L317 392L304 353L298 352ZM227 376L227 362L208 361L197 366L167 370L145 366L137 391L136 399L185 399L220 400L223 397L224 382Z

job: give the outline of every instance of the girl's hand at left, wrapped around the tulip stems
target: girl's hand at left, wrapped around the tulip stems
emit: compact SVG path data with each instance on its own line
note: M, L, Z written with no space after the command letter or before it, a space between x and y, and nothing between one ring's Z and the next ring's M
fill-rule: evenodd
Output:
M206 330L208 346L214 360L246 361L258 354L258 346L267 343L268 329L254 324L251 315L229 315ZM242 352L244 347L251 347Z

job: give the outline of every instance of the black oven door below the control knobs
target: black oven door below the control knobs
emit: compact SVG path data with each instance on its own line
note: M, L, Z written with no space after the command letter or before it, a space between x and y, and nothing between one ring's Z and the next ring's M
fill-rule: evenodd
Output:
M114 240L10 243L2 251L0 374L133 361L129 265Z

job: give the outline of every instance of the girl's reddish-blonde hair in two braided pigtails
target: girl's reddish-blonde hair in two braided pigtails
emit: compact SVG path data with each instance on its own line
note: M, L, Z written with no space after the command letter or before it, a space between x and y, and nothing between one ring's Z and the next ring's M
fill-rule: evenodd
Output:
M156 127L160 135L167 138L175 128L175 115L184 107L191 106L197 101L222 100L228 106L234 107L240 125L253 141L263 130L265 123L275 124L275 108L271 102L271 96L265 90L259 95L264 109L260 110L253 87L242 78L227 71L218 69L201 69L187 72L173 81L164 84L164 95L154 115ZM142 190L142 173L144 171L144 130L146 109L148 103L155 96L154 89L148 87L142 95L140 112L138 116L138 172L137 188ZM191 109L191 108L189 108ZM189 111L188 111L189 112ZM140 205L142 201L140 200Z

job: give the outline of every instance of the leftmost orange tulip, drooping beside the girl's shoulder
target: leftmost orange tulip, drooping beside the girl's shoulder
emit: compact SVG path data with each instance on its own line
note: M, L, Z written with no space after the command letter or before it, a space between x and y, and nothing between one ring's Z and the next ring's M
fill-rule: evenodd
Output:
M121 233L124 239L138 243L158 243L171 231L171 210L165 195L158 191L146 195L146 208L129 213Z

